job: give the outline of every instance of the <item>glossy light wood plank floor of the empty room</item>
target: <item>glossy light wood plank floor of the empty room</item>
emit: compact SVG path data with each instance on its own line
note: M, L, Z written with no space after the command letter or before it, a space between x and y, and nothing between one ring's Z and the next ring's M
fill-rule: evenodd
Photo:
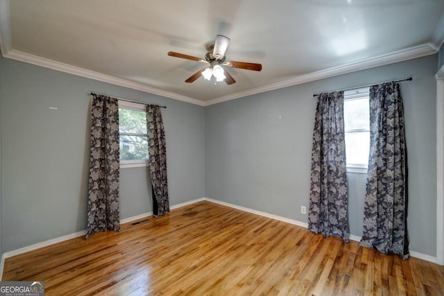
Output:
M211 202L6 259L45 295L444 295L444 267L402 261Z

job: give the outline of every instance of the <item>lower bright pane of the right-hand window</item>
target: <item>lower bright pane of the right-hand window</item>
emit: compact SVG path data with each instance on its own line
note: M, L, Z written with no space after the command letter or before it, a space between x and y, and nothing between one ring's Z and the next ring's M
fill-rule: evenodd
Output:
M345 132L347 164L368 164L370 132Z

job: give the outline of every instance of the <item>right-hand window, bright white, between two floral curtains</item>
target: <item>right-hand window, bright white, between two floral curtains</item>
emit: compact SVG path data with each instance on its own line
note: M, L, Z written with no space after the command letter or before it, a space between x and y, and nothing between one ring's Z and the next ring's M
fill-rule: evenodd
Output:
M347 171L367 173L370 150L368 87L344 92L344 128Z

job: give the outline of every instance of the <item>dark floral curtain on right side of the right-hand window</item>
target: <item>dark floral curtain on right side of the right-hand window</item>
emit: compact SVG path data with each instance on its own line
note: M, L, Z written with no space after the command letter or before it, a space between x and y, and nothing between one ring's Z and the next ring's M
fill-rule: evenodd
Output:
M406 146L400 86L370 87L370 156L361 245L407 259Z

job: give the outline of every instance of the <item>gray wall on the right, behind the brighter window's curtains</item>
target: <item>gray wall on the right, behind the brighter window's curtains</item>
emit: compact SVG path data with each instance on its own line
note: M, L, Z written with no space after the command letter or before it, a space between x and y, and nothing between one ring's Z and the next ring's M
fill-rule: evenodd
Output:
M307 223L313 94L401 83L409 166L410 249L436 256L438 55L256 94L205 109L205 196ZM348 173L350 231L362 235L366 175Z

